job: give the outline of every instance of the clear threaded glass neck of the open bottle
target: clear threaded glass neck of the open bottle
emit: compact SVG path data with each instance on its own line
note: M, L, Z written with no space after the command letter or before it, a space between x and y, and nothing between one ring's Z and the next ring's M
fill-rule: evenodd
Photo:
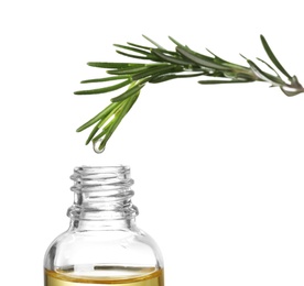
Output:
M138 208L132 205L133 179L127 166L76 167L70 176L74 204L68 209L75 229L131 228Z

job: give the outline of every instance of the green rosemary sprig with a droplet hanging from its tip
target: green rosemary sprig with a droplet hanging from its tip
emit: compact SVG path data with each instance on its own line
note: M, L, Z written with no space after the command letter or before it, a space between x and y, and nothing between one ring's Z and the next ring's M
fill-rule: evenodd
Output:
M153 45L152 47L133 43L115 45L119 48L117 53L127 57L141 59L144 63L88 63L89 66L107 69L110 76L84 80L82 84L105 81L118 81L118 84L75 92L75 95L96 95L128 87L119 96L112 98L111 103L107 108L77 129L77 132L80 132L95 124L86 144L93 141L94 148L98 153L105 150L108 140L130 111L141 89L148 82L159 84L175 78L203 76L211 79L202 79L198 81L200 85L264 81L269 82L271 87L280 87L287 97L304 92L304 88L298 82L296 76L290 76L262 35L261 42L263 48L274 67L265 61L260 58L258 61L264 64L271 74L264 72L253 61L243 56L248 66L227 62L208 50L210 55L197 53L188 46L180 44L172 37L170 40L175 44L175 51L165 50L149 37L144 37Z

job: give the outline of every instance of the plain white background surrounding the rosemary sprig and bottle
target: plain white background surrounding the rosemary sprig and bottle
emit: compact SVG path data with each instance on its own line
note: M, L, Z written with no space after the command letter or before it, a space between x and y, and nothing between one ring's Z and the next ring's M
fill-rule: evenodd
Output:
M2 1L1 285L43 285L43 255L68 227L78 165L127 164L139 226L159 242L166 285L304 284L304 96L268 84L148 85L97 155L75 130L113 95L76 97L126 61L113 43L167 35L228 61L267 59L268 38L304 80L301 1Z

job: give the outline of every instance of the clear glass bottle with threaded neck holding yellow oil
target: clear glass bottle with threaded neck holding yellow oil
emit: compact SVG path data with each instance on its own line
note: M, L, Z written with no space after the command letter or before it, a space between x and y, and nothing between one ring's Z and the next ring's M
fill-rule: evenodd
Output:
M135 224L130 168L76 167L70 224L48 246L45 286L163 286L163 260Z

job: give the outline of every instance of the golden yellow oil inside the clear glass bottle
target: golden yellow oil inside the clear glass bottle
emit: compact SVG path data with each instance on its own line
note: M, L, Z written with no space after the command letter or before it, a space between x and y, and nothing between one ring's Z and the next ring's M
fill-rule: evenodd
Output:
M163 270L151 267L94 267L87 275L75 271L45 270L44 286L104 286L117 284L119 286L164 286Z

